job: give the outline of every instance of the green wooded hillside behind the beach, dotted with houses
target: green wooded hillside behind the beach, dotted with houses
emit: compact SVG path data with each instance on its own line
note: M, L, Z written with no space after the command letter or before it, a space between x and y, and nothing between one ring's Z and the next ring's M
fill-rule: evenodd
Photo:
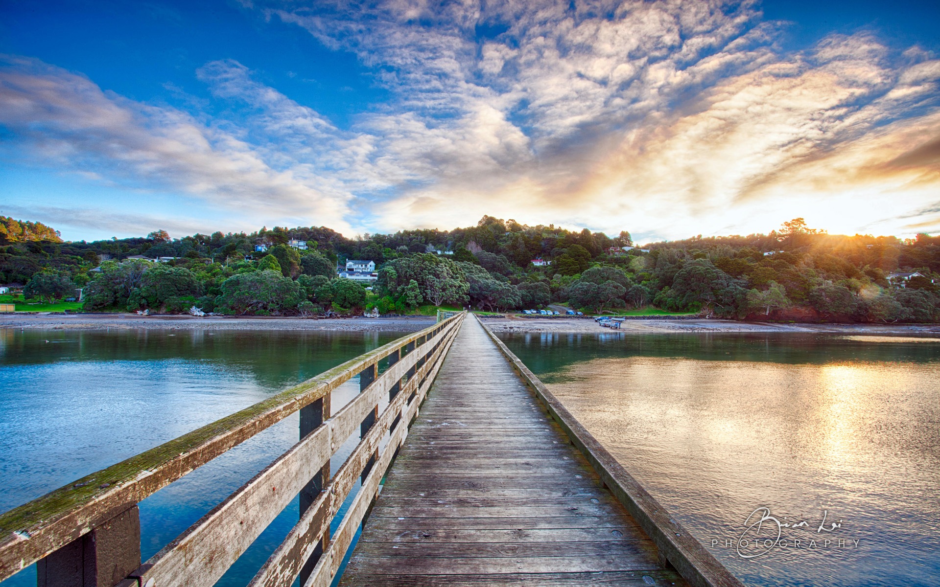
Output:
M308 249L291 247L290 239ZM164 262L153 261L159 257ZM371 290L337 277L347 259L376 263ZM0 216L0 283L43 301L82 288L84 310L99 312L180 313L196 305L220 314L315 316L557 303L591 314L652 307L752 320L936 322L940 237L830 235L798 218L768 234L640 248L626 230L609 237L484 216L450 231L352 239L322 226L275 226L86 242Z

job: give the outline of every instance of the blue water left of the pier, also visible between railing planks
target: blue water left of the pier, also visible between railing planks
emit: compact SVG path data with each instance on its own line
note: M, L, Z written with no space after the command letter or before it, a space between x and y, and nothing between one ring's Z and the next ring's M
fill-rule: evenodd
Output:
M0 330L0 512L403 334ZM334 409L357 393L347 382ZM290 448L298 424L294 414L141 502L144 559ZM357 441L337 453L334 471ZM217 584L245 585L298 512L294 499ZM2 585L35 586L35 566Z

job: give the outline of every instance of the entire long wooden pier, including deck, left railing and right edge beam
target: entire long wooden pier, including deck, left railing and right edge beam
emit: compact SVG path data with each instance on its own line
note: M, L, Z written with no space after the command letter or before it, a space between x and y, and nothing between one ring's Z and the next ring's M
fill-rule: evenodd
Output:
M297 444L142 564L137 502L297 410ZM3 514L0 580L35 562L39 587L211 585L298 494L251 587L741 585L463 313Z

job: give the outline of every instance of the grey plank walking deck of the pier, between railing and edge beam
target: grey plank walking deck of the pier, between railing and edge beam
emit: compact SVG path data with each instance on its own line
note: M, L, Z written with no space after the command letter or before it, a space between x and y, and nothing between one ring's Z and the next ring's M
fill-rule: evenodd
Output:
M537 401L466 319L340 585L684 585Z

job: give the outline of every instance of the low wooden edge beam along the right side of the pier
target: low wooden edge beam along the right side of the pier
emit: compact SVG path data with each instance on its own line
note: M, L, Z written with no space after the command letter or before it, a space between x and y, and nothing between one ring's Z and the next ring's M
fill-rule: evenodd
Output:
M669 516L666 508L577 421L572 412L545 387L540 378L536 377L482 320L477 319L515 371L539 397L548 415L561 426L572 444L587 458L594 471L597 471L603 486L610 490L650 536L660 558L668 561L693 587L744 587L744 583L714 558L695 536Z

